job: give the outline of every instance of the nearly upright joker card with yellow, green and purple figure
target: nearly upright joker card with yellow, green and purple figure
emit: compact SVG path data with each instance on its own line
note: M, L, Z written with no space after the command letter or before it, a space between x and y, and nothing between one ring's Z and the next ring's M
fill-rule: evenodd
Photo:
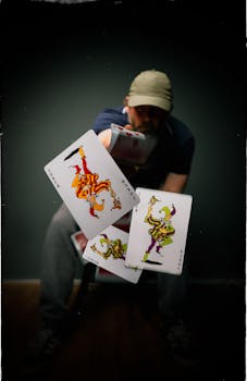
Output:
M126 265L181 274L193 198L190 195L136 188Z

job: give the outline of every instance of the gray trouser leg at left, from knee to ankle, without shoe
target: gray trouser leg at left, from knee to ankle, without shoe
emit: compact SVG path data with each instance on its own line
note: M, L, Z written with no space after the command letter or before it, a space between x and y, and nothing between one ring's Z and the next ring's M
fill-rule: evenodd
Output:
M55 328L67 312L78 260L71 235L78 229L64 204L48 228L41 257L40 309L45 327Z

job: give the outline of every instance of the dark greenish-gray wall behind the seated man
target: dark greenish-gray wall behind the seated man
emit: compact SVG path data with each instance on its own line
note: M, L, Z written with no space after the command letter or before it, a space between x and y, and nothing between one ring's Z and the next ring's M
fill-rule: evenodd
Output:
M165 71L196 138L190 278L245 278L245 9L223 1L1 3L2 278L39 278L60 197L44 165L122 103L134 76ZM161 7L162 5L162 7Z

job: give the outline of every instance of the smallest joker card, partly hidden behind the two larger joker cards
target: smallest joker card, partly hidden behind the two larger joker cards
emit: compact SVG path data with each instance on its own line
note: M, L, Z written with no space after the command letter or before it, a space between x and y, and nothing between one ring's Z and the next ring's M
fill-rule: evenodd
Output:
M141 270L125 266L128 233L109 226L88 241L83 258L132 283L137 283Z

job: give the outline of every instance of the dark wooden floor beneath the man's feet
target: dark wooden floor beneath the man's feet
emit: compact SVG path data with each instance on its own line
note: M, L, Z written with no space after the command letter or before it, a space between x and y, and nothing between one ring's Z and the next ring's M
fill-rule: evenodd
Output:
M27 342L40 328L38 295L38 283L2 285L3 381L21 380ZM192 287L189 314L198 360L188 366L171 356L161 337L152 285L91 284L85 316L46 380L244 381L243 302L242 287Z

